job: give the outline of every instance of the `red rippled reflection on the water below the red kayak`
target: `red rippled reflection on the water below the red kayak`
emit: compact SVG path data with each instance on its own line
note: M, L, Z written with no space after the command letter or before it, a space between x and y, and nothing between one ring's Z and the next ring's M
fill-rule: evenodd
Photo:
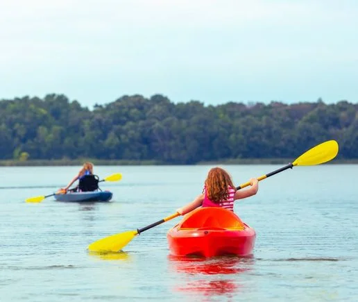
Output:
M169 255L169 268L179 274L185 274L184 285L176 287L180 292L200 292L208 296L227 295L238 292L240 284L238 275L253 269L253 256L217 257L217 258L178 258ZM211 276L208 276L211 275Z

